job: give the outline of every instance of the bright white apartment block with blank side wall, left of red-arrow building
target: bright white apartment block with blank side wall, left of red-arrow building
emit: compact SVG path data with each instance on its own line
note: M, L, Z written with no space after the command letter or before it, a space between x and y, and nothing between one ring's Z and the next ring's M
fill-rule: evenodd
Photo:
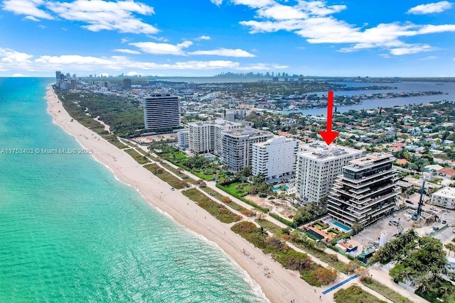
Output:
M299 141L284 136L252 144L252 174L264 174L266 180L291 177L296 171Z

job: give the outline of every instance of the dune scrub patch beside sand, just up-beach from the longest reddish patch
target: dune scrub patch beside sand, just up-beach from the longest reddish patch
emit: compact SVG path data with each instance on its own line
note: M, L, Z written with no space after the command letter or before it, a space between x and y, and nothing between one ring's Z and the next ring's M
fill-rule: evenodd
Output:
M214 202L198 189L188 189L183 191L183 194L223 223L232 223L241 219L240 216L237 216L225 206Z

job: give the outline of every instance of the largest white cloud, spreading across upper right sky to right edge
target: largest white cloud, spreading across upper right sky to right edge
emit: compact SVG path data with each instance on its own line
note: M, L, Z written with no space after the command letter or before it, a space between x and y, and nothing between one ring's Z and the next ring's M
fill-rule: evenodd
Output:
M250 2L231 1L235 4L242 2L245 5ZM241 25L250 28L250 33L290 31L305 38L308 43L350 44L338 50L343 53L370 48L386 49L392 55L426 52L436 48L424 43L407 44L403 39L415 35L455 31L455 24L434 26L394 22L380 23L370 28L366 28L368 24L355 26L328 16L343 11L346 9L345 5L328 6L325 1L299 0L294 6L275 3L250 7L257 10L257 20L240 21Z

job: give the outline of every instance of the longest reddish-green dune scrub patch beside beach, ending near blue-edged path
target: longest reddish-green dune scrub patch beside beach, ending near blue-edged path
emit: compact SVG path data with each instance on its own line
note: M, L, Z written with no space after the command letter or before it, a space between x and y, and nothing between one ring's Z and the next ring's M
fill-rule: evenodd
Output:
M300 253L287 246L281 238L268 236L265 231L250 222L242 221L231 227L231 230L238 233L264 253L272 255L274 260L283 265L284 268L298 270L301 278L309 285L328 285L336 279L336 270L323 268L314 263L306 253Z

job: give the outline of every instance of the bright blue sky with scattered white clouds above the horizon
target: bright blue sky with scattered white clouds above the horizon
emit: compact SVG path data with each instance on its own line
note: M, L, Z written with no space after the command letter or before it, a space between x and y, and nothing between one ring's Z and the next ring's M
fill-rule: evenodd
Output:
M55 70L455 77L455 3L0 1L0 76Z

